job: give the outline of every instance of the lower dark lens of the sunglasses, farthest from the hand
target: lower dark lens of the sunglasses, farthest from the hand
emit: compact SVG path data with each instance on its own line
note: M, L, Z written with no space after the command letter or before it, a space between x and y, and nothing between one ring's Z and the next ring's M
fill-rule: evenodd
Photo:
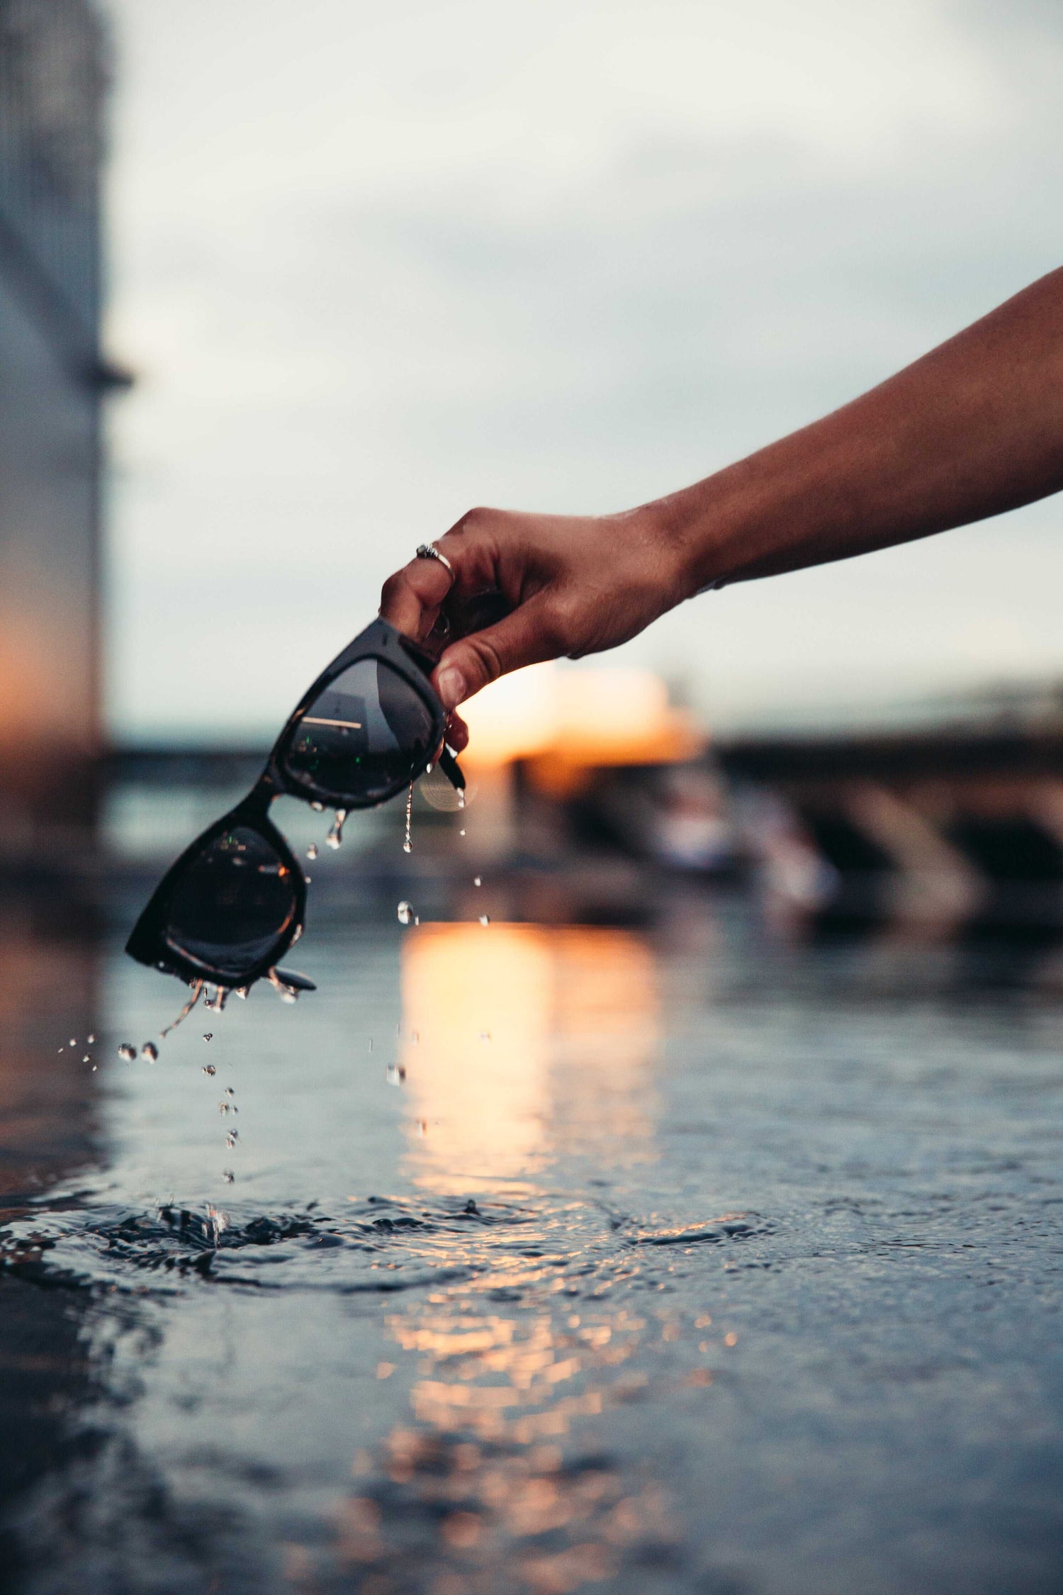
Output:
M249 826L223 831L183 871L166 919L175 952L239 981L292 928L295 880L269 842Z

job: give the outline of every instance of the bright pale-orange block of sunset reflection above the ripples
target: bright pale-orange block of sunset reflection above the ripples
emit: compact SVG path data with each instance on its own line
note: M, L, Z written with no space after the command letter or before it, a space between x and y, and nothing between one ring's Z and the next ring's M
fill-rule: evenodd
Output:
M653 963L630 931L426 925L403 941L403 1064L419 1180L532 1179L564 1145L615 1163L650 1147Z

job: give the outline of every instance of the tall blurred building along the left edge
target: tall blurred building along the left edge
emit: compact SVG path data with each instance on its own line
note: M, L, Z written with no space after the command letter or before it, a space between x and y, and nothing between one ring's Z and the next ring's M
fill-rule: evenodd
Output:
M0 0L0 847L92 818L100 169L88 0Z

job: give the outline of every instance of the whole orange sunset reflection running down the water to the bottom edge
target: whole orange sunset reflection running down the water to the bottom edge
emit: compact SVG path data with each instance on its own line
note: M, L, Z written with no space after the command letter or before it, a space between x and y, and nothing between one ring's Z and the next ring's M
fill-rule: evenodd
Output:
M574 1431L641 1397L645 1373L626 1364L657 1314L558 1268L585 1198L561 1198L551 1217L534 1201L563 1152L602 1168L655 1156L653 957L622 930L426 925L403 944L402 979L410 1171L433 1193L528 1201L526 1244L387 1317L410 1418L382 1455L355 1459L389 1491L343 1507L341 1557L410 1574L411 1522L430 1512L440 1595L486 1595L499 1579L563 1595L610 1577L630 1547L660 1554L674 1538L652 1479L633 1488L585 1434L571 1451ZM491 1252L489 1230L480 1246Z

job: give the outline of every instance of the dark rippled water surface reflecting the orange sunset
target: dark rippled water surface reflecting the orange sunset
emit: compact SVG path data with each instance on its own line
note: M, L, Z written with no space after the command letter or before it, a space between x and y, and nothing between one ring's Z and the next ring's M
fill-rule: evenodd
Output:
M1049 951L400 884L158 1062L124 901L5 911L5 1587L1058 1590Z

